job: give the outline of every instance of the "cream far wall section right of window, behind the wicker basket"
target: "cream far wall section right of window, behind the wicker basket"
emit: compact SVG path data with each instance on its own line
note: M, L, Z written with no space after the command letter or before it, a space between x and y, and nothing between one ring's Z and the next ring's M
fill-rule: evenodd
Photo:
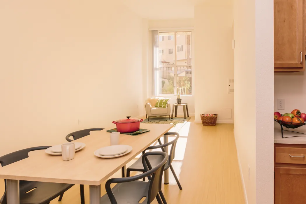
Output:
M234 95L227 92L227 81L233 79L232 6L196 6L194 21L195 121L201 121L200 114L217 113L219 123L233 123ZM222 109L232 109L231 118L224 118Z

